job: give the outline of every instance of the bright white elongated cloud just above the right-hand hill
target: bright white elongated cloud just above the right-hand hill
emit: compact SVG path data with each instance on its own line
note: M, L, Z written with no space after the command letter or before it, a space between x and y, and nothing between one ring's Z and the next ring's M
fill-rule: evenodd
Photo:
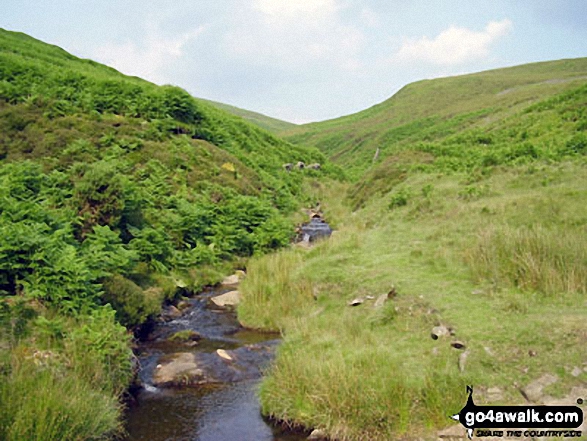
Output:
M493 43L512 29L509 19L492 21L481 32L451 26L436 38L408 39L396 53L395 61L424 61L437 65L457 65L487 57Z

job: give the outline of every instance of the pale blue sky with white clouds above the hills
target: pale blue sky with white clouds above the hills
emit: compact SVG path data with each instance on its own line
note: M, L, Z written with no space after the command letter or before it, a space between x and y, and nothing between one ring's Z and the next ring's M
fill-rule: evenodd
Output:
M0 27L294 123L422 79L587 56L585 0L2 0Z

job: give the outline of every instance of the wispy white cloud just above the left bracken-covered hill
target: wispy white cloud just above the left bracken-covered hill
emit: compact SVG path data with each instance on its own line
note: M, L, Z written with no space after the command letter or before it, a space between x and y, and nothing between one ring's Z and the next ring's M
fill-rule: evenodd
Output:
M185 45L204 31L201 26L169 38L161 34L158 25L152 20L145 28L140 45L134 42L107 43L98 47L93 56L122 73L163 84L169 81L164 73L165 67L180 58Z

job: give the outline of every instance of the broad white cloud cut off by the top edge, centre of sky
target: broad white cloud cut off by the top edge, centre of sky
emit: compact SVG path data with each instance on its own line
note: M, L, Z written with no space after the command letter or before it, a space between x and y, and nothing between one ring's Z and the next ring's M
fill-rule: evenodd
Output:
M243 11L246 20L241 17L224 35L223 52L246 64L312 75L318 69L358 69L365 38L342 22L339 2L254 0Z

